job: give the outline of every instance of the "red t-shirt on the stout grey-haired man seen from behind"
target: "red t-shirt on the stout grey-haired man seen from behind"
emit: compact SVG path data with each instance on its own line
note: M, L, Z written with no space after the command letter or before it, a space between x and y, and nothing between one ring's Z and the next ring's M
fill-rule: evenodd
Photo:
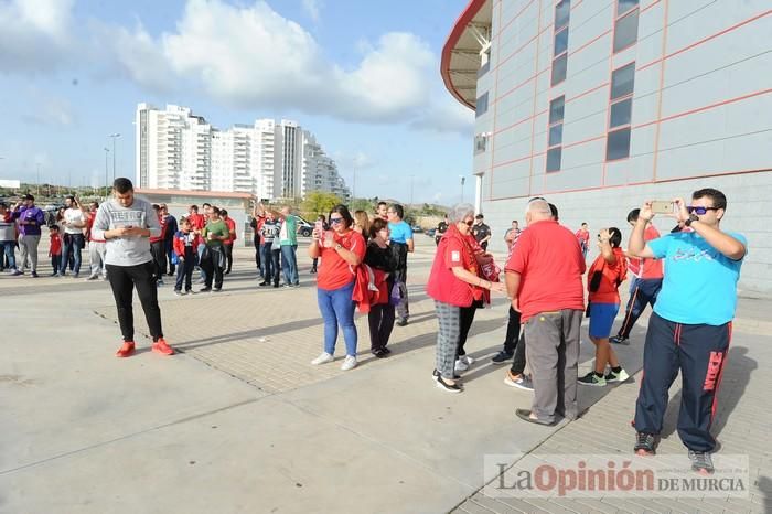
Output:
M585 258L576 236L554 221L528 225L506 263L521 275L521 321L539 312L585 309Z

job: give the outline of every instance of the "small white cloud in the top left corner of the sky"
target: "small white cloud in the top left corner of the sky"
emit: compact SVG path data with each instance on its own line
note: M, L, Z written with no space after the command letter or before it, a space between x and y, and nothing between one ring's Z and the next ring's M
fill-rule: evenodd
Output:
M74 0L13 0L0 3L0 73L50 72L72 55Z

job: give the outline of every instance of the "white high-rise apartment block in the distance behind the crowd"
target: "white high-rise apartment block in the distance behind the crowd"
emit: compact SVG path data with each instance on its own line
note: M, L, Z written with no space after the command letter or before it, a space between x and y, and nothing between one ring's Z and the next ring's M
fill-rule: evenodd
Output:
M311 191L350 196L335 161L291 120L258 119L219 130L190 108L137 106L140 188L304 197Z

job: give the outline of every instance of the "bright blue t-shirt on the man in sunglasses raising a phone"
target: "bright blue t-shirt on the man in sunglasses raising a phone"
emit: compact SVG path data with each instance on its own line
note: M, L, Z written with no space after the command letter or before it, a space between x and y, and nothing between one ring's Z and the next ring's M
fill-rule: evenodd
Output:
M746 246L746 237L728 233ZM665 259L665 278L654 312L675 323L720 326L735 318L740 260L732 260L694 232L668 234L647 243Z

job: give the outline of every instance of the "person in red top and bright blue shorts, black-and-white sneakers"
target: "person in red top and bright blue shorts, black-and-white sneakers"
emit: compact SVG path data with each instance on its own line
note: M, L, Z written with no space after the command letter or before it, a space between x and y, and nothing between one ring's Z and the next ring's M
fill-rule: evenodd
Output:
M622 233L616 227L603 228L598 234L598 249L590 271L587 274L587 290L590 292L590 340L596 345L596 367L579 378L579 384L605 386L609 382L624 382L630 378L616 358L616 353L609 345L611 326L619 313L619 286L628 275L628 261L620 245ZM607 364L611 367L605 374Z

